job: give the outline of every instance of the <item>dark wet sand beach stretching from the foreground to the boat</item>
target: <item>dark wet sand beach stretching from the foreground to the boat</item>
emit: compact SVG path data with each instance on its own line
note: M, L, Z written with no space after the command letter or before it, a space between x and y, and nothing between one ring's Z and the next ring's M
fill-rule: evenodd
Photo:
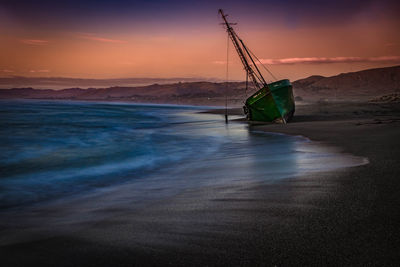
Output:
M399 104L298 106L287 125L250 127L304 135L370 163L275 184L189 190L145 208L114 207L114 216L70 231L49 223L35 236L3 225L3 243L23 238L0 246L1 264L397 266L399 126Z

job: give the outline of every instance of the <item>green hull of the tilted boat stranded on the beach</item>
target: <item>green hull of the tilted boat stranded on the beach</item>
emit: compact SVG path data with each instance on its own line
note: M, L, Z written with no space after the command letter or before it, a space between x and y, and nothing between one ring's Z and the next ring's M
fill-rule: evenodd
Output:
M295 111L292 84L289 80L268 84L247 98L244 110L251 121L290 121Z

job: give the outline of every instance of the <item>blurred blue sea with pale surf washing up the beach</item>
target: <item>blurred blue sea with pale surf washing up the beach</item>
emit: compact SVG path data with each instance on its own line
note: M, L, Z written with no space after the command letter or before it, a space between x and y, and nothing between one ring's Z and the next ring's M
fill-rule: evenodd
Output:
M125 184L132 198L276 183L364 164L302 136L266 133L210 107L0 101L0 210ZM162 190L156 190L156 189Z

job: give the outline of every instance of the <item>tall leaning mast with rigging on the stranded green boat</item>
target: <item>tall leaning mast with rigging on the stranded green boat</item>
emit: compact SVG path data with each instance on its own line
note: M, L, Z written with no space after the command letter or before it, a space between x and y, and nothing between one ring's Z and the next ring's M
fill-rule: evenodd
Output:
M226 26L226 31L228 32L228 35L230 39L232 40L232 43L236 49L236 52L239 55L240 60L242 61L242 64L244 66L244 69L247 73L247 76L250 76L254 86L257 88L257 90L265 87L268 89L268 85L264 80L264 77L261 75L260 70L257 68L253 58L251 57L247 47L244 45L242 39L239 38L239 36L236 34L236 32L233 30L231 27L231 23L228 22L226 19L227 15L224 14L223 10L220 9L218 10L218 13L221 14L222 19L224 20L224 24ZM242 46L240 46L242 45ZM243 52L243 49L245 50L247 57L250 58L251 62L253 63L254 68L256 69L256 72L253 70L253 68L250 66L249 62L247 61L246 54ZM261 83L261 85L260 85Z

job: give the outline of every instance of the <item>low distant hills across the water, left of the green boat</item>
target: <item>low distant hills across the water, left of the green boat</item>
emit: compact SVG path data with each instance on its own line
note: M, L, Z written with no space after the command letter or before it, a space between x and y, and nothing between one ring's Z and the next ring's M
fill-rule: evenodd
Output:
M240 102L245 98L244 83L229 83L229 90L227 91L226 88L226 83L212 82L62 90L40 90L29 87L0 89L0 99L71 99L219 105L221 101L225 101L225 92L231 103Z

